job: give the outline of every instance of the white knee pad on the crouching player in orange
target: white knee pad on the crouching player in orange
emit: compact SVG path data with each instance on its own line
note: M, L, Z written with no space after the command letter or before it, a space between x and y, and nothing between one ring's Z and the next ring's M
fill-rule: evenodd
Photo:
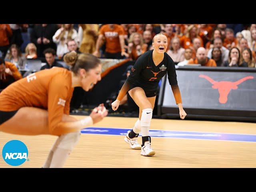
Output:
M68 134L63 134L58 138L58 148L72 151L76 144L78 143L81 136L81 132L72 132Z

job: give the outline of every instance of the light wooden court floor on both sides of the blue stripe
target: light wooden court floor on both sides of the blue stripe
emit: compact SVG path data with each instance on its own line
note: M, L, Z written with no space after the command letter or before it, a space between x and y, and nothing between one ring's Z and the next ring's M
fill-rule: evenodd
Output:
M75 116L84 118L84 116ZM137 118L106 117L93 127L132 128ZM256 135L255 123L152 119L154 130L195 131ZM11 168L2 158L10 140L28 147L29 161L19 168L40 168L56 136L19 136L0 132L0 168ZM141 137L138 141L141 143ZM124 136L82 134L65 168L255 168L256 142L152 137L153 157L140 155L124 142Z

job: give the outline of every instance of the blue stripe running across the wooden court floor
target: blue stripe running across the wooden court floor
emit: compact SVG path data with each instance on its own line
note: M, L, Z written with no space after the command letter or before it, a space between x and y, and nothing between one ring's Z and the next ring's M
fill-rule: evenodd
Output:
M128 130L130 130L130 129L88 127L88 128L81 130L81 133L126 135ZM141 136L141 134L140 134L140 136ZM256 135L250 135L250 134L230 134L230 133L228 134L228 133L209 133L209 132L150 130L149 136L151 136L151 137L168 137L168 138L256 142Z

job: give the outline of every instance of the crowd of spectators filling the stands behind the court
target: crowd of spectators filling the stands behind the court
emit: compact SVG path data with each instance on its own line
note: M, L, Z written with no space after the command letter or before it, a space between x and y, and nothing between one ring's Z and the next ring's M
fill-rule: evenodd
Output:
M71 51L137 60L158 33L178 66L256 67L256 24L0 24L0 91L27 60L41 60L41 70L62 67Z

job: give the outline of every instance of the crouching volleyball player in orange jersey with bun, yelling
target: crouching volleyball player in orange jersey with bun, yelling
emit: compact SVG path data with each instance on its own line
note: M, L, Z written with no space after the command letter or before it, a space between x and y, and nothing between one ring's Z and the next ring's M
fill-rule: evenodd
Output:
M80 130L102 120L103 104L82 120L69 116L74 87L88 91L101 80L101 63L90 54L68 53L70 71L53 67L30 74L0 93L0 131L20 135L59 136L44 168L62 167L78 143ZM104 111L103 113L95 111Z

